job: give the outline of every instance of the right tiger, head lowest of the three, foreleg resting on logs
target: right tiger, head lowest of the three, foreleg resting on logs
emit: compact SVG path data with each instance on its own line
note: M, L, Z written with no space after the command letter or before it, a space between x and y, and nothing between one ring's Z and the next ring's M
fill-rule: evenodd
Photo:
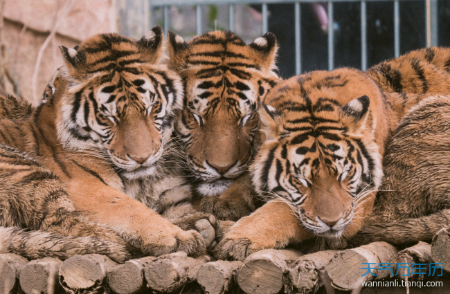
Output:
M250 167L267 202L231 227L215 257L243 260L313 238L345 248L372 213L399 122L432 93L449 93L449 60L450 49L426 48L366 73L312 71L275 86L259 111L266 140Z

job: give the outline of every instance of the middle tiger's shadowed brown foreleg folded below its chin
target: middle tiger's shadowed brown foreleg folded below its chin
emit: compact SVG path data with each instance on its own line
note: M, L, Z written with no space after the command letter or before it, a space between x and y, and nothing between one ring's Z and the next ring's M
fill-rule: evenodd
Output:
M256 192L249 173L245 173L219 197L205 196L200 209L215 215L222 221L237 221L255 210Z

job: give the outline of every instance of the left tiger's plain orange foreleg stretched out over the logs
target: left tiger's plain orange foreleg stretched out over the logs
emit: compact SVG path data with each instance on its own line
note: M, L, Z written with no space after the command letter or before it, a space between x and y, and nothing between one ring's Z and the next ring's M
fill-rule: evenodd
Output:
M145 204L90 174L72 178L66 188L76 210L83 212L90 221L114 230L147 255L184 251L199 256L206 252L199 232L181 230Z

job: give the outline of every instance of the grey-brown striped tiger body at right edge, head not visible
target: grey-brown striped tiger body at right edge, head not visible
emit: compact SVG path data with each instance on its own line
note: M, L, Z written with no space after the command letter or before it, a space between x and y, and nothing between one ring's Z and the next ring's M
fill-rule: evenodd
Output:
M349 244L405 248L450 227L449 118L449 95L427 96L408 111L386 149L373 213Z

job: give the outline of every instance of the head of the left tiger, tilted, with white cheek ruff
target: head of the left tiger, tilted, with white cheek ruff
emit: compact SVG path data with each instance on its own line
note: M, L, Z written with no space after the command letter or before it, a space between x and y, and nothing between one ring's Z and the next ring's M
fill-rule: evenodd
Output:
M153 174L183 106L162 46L156 26L139 41L112 33L60 47L67 86L56 127L65 147L100 150L127 178Z

